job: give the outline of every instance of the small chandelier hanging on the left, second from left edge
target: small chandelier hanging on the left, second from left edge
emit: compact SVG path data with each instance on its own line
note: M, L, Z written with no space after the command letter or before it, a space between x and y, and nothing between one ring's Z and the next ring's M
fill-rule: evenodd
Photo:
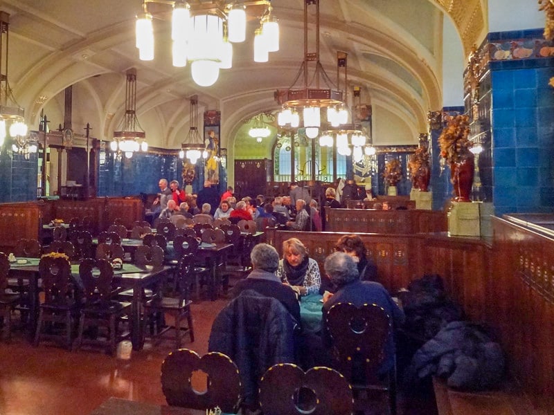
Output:
M127 71L125 116L120 126L120 131L114 131L114 140L110 143L111 151L123 152L126 158L131 158L134 151L148 150L146 133L136 119L136 68Z

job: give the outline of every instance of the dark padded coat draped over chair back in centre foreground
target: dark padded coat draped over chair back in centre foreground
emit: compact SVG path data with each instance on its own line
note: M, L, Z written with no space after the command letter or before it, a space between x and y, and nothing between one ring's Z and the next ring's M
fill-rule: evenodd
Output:
M224 353L240 372L245 403L258 403L258 382L269 367L294 363L292 315L278 299L243 291L215 317L209 351Z

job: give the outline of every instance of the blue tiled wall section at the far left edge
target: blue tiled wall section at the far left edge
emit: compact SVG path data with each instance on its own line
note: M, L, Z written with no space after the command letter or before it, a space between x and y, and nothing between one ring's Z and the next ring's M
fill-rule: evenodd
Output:
M37 153L13 153L6 143L0 149L0 202L37 199Z

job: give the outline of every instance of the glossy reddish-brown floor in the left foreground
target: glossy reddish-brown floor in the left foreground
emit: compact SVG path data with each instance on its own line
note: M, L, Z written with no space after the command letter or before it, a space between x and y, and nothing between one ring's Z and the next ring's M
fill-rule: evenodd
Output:
M206 353L211 324L225 304L193 304L195 342L187 336L184 347ZM16 332L11 342L0 342L0 415L86 415L110 396L165 404L160 367L171 347L146 344L131 360L118 360L98 349L71 353L48 343L35 348ZM401 391L398 406L400 415L436 414L432 393Z

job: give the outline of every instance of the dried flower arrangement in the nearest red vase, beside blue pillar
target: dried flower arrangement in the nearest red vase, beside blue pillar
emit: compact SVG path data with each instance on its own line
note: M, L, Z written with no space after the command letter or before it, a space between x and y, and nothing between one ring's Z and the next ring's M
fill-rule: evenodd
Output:
M447 125L438 137L440 156L447 163L459 163L469 156L473 143L467 139L470 134L470 118L467 116L446 116Z

